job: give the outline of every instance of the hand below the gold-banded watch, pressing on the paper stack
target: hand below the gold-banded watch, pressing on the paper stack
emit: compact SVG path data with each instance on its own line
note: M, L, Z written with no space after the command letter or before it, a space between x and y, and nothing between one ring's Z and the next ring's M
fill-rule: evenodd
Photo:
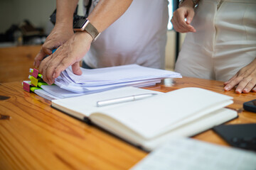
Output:
M82 74L80 60L90 49L91 42L90 34L86 32L75 33L52 55L41 62L38 70L43 75L43 81L46 81L47 84L53 84L60 72L63 72L70 65L72 65L74 74Z

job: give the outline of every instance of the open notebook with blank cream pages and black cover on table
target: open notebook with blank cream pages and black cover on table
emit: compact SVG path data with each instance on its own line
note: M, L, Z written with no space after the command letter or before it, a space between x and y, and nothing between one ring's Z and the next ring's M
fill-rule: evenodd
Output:
M157 95L138 101L97 107L97 101L137 94ZM236 118L225 106L230 96L199 88L183 88L168 93L124 87L97 94L52 101L53 108L112 132L124 140L152 150L176 136L193 136Z

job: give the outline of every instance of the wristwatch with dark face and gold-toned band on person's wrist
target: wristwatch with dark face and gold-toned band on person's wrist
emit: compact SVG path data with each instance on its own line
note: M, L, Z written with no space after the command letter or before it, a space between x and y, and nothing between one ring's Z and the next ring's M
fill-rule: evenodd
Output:
M92 36L92 41L95 41L100 35L99 31L95 26L92 26L92 23L88 19L80 19L75 23L73 27L75 31L86 31Z

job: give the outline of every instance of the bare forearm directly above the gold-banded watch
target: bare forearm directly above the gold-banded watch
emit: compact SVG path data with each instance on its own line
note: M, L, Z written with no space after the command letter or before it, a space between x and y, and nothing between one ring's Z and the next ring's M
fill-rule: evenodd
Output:
M60 0L63 1L63 0ZM101 0L90 13L88 19L101 33L116 21L127 8L132 4L132 0Z

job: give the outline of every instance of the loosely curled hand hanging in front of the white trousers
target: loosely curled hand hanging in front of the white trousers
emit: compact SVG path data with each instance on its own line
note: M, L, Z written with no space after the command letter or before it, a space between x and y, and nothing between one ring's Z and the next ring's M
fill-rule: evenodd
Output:
M195 11L193 8L193 1L183 1L181 6L174 11L174 15L171 18L171 23L174 26L174 30L180 33L196 32L196 29L190 25L194 15Z

